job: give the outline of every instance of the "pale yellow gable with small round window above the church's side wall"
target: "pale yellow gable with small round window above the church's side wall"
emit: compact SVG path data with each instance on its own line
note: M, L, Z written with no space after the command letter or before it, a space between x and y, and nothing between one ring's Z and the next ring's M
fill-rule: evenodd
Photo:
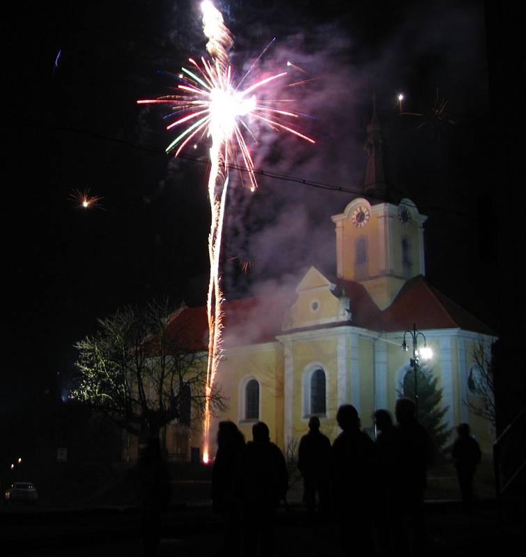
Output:
M301 329L348 320L348 299L337 296L337 287L311 267L297 285L297 300L285 315L282 329Z

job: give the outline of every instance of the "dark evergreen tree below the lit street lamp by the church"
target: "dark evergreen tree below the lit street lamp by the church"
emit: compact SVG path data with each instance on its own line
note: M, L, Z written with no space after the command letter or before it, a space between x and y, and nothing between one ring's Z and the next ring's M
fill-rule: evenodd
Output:
M438 455L442 452L451 433L447 425L442 423L442 418L449 407L442 407L443 389L437 388L438 378L433 375L431 370L419 366L418 363L405 374L403 389L399 395L416 400L415 371L418 396L417 420L431 437L434 455Z

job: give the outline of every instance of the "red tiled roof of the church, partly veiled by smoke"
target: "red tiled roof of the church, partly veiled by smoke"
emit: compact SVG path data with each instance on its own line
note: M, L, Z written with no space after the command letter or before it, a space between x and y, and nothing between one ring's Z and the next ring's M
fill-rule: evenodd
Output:
M334 322L307 327L320 329L352 325L369 331L405 331L413 323L418 329L463 329L494 335L484 323L458 306L442 292L429 285L421 275L403 285L393 303L380 311L363 285L343 278L330 278L337 285L336 295L350 300L348 322ZM271 296L225 301L223 304L223 345L225 348L268 343L282 334L286 308L295 299L293 292ZM171 324L173 334L183 334L192 350L208 350L206 307L185 308ZM295 329L300 331L303 329ZM287 331L292 332L292 331Z

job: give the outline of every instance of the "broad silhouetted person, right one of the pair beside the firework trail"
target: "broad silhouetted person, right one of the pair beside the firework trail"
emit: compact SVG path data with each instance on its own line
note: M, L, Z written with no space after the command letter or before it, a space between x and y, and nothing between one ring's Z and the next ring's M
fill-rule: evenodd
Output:
M283 453L270 442L268 426L252 427L242 459L242 506L245 524L245 557L271 557L274 554L274 519L279 502L288 487Z

